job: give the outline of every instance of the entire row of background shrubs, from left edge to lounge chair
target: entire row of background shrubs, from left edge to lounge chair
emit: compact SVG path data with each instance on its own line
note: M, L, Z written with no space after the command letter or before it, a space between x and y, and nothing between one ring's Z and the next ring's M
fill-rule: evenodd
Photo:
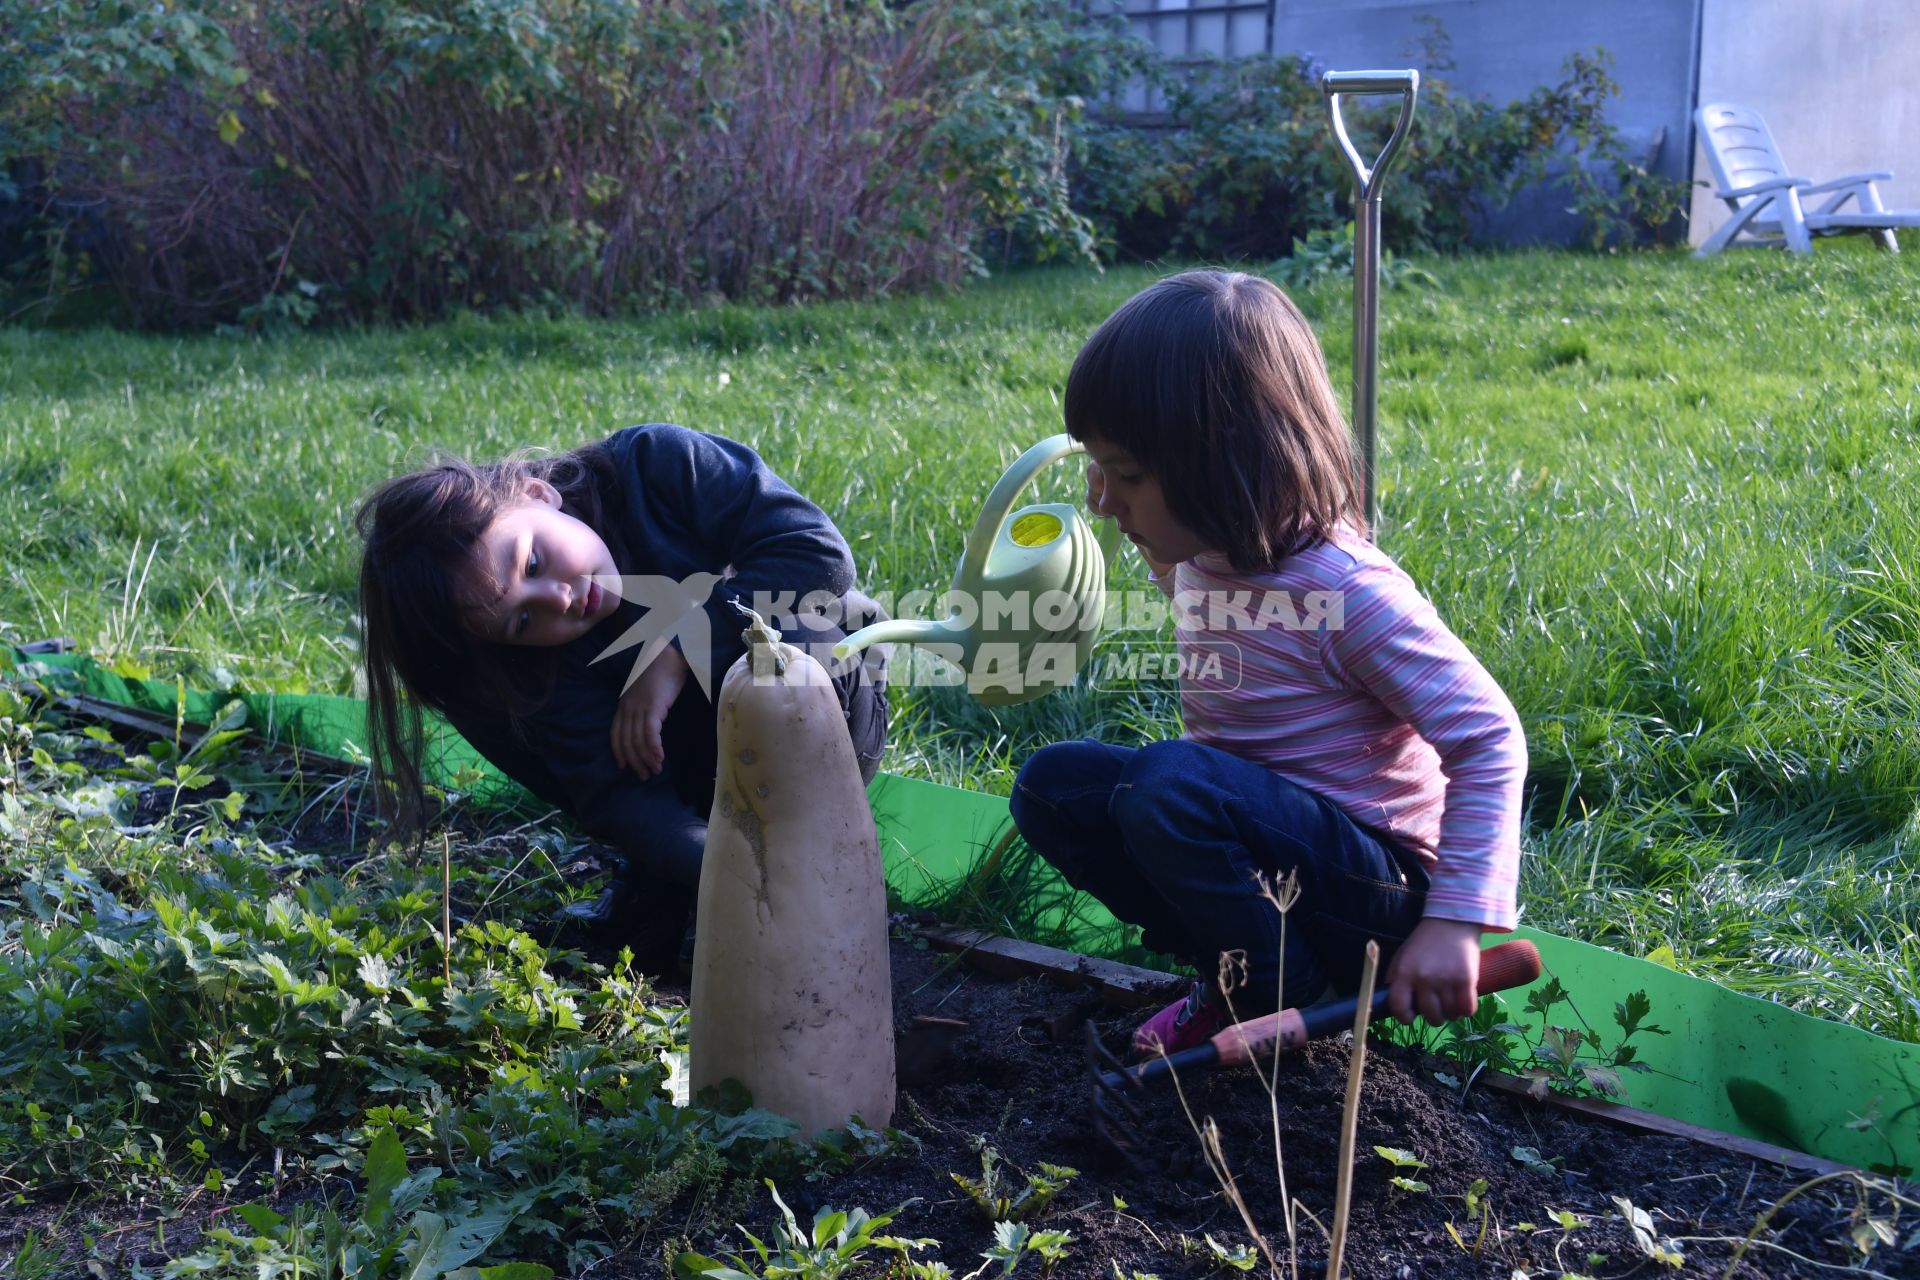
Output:
M1450 65L1438 29L1421 63ZM1596 242L1668 219L1607 65L1503 107L1430 75L1388 244L1461 248L1569 154L1613 169L1563 175ZM1321 69L1169 71L1071 0L0 0L0 317L98 292L273 328L1271 259L1350 217ZM1112 111L1133 79L1164 127Z

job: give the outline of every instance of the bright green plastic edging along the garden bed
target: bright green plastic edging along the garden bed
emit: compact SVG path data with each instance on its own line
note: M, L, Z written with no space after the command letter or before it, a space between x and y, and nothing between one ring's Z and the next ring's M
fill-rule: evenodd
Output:
M273 741L332 756L363 758L365 704L332 695L248 695L186 689L177 681L121 676L86 656L0 651L19 676L42 676L94 699L196 723L215 722L234 699L246 727ZM428 773L455 779L488 802L526 796L465 741L440 725ZM956 787L881 773L870 789L887 885L906 902L947 896L981 873L1010 831L1006 800ZM1050 919L1064 936L1094 942L1116 921L1085 894L1071 919ZM1619 1036L1613 1009L1645 992L1647 1023L1668 1034L1640 1034L1649 1071L1622 1073L1626 1102L1670 1119L1793 1148L1811 1155L1910 1176L1920 1169L1920 1044L1901 1044L1853 1027L1795 1013L1634 956L1534 929L1546 977L1571 996L1572 1013L1601 1044ZM1094 950L1085 946L1081 950ZM1528 1025L1524 992L1503 998L1509 1021ZM1555 1009L1567 1021L1569 1006ZM1538 1023L1532 1023L1538 1032ZM1538 1034L1534 1034L1538 1038Z

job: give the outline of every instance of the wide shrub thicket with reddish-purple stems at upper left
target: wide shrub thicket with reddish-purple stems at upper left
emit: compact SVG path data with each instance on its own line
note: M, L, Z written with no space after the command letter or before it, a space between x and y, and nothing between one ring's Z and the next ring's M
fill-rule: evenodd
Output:
M144 322L948 284L1068 201L1100 42L1043 0L0 0L48 288ZM75 249L84 230L84 248Z

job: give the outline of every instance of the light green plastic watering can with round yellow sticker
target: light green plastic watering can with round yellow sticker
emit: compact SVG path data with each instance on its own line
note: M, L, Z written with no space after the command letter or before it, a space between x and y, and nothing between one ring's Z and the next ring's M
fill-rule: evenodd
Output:
M860 628L833 654L868 645L922 645L966 672L985 706L1014 706L1071 685L1100 635L1106 558L1119 545L1112 520L1092 524L1069 503L1014 510L1048 462L1081 445L1060 434L1021 453L981 507L939 622L893 618Z

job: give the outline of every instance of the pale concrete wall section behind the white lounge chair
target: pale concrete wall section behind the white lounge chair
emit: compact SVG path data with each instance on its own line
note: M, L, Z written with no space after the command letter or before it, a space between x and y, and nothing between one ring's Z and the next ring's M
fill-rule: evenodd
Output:
M1920 0L1705 0L1699 102L1764 115L1795 177L1891 169L1880 184L1891 209L1920 209L1916 73ZM1713 182L1705 155L1693 177ZM1693 188L1693 244L1726 217L1722 201Z

